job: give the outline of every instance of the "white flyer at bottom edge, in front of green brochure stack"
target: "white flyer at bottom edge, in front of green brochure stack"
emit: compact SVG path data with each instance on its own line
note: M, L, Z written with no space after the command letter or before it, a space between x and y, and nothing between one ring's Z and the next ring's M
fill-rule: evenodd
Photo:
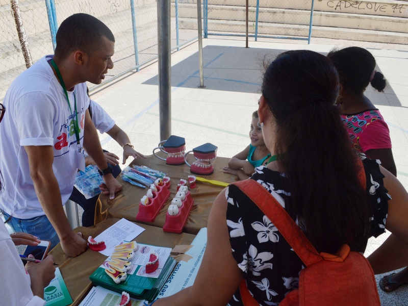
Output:
M106 305L118 305L121 299L119 293L110 291L100 286L93 287L89 291L88 295L82 300L79 306L106 306ZM142 306L144 300L136 300L131 298L129 306Z

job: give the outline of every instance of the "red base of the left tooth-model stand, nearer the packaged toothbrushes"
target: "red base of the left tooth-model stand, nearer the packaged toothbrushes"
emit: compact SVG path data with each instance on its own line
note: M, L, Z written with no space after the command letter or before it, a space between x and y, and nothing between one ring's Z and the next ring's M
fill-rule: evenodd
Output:
M153 222L162 209L164 203L170 197L170 191L167 184L165 186L156 186L157 192L153 191L153 198L149 198L148 205L142 205L139 202L139 212L137 213L136 220Z

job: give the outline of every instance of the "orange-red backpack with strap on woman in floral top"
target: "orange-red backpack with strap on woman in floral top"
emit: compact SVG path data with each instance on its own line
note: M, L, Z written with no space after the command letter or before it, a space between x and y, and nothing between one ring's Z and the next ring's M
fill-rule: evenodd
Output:
M365 173L363 167L362 169L359 176L365 186ZM361 253L350 251L350 247L344 244L335 255L324 252L319 254L285 209L264 187L253 180L234 185L256 203L306 265L300 271L299 288L287 294L279 306L380 306L374 272ZM259 306L249 293L245 279L239 288L245 306Z

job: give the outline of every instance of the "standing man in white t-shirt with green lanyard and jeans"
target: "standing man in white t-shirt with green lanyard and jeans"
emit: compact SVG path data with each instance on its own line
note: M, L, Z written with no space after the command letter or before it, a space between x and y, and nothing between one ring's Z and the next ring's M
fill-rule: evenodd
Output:
M63 203L78 169L85 167L82 147L101 170L101 190L115 197L122 186L112 176L89 116L85 82L100 84L113 68L114 36L87 14L65 19L57 33L55 55L22 72L10 85L0 126L0 169L4 191L0 208L16 232L61 241L71 257L87 242L70 228Z

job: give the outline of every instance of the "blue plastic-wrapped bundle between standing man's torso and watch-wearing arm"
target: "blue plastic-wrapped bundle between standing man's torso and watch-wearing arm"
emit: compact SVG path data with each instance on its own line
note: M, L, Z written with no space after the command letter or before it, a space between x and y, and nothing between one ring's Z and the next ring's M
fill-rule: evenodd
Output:
M79 171L75 178L74 186L86 199L90 199L100 193L99 185L104 183L102 176L99 175L96 166L89 165L85 172Z

